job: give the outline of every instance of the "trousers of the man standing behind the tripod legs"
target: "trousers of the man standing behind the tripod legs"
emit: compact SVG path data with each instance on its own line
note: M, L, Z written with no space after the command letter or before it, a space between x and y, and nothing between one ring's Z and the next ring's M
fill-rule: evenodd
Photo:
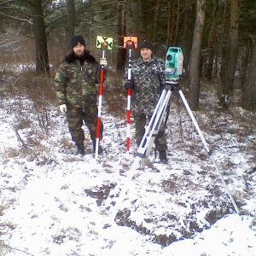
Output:
M136 135L136 142L137 146L141 143L144 133L145 133L145 125L147 123L147 120L149 121L151 119L151 116L146 116L144 113L140 113L137 115L134 115L135 120L135 135ZM158 135L154 139L154 145L157 151L166 150L166 132L164 124L160 125L160 130L158 132Z

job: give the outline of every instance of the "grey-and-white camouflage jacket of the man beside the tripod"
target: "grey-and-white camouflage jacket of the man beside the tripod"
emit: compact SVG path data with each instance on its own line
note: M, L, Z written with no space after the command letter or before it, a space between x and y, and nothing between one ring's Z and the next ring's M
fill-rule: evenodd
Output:
M149 115L154 112L160 91L165 84L165 61L152 56L151 60L144 62L142 58L131 63L131 76L134 89L131 93L131 111ZM127 70L126 70L127 78Z

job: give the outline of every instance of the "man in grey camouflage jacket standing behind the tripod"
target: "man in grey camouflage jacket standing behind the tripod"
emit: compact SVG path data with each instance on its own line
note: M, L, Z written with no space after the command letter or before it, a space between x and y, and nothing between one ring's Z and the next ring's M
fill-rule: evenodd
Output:
M125 81L125 89L132 89L131 113L135 119L137 146L145 133L145 125L154 112L160 92L164 88L165 61L153 55L153 44L143 41L140 47L140 58L131 63L132 81ZM126 73L127 75L127 73ZM166 134L164 125L154 139L155 148L159 151L160 161L167 163Z

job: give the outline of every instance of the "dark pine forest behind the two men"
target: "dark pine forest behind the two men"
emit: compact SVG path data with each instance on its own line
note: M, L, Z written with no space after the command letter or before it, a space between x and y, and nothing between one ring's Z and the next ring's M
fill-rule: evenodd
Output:
M0 61L2 67L11 61L35 63L32 76L44 76L51 84L71 49L70 38L82 34L99 60L100 35L113 38L108 69L121 78L124 37L137 36L138 44L154 42L160 58L170 46L183 49L182 84L192 110L200 109L204 79L216 87L220 107L229 108L239 90L236 104L255 111L255 21L256 3L246 0L0 0Z

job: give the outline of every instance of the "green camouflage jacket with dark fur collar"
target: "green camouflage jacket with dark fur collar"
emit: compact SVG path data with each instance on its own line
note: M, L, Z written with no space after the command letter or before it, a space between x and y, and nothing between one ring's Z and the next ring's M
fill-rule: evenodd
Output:
M82 67L73 54L67 55L55 75L58 103L77 108L96 104L99 81L100 66L92 55L86 54Z

